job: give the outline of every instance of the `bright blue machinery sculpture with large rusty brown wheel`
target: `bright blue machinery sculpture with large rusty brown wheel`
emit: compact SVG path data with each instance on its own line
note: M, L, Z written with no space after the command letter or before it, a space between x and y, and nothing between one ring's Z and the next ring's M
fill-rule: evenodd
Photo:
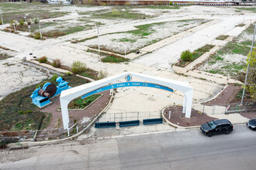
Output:
M67 81L65 81L61 76L56 79L58 86L56 87L53 83L45 83L43 89L40 87L33 91L33 94L30 96L32 98L33 104L36 104L37 107L45 107L47 104L50 104L50 98L57 96L63 90L70 89L70 86L67 86Z

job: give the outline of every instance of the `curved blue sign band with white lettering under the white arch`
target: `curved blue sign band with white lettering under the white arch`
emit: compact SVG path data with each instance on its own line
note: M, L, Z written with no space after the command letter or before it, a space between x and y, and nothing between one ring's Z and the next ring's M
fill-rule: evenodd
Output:
M94 93L99 93L101 91L105 91L105 90L109 90L109 89L116 89L116 88L119 88L119 87L154 87L154 88L157 88L157 89L161 89L161 90L168 90L168 91L171 91L173 92L173 90L169 87L164 87L164 86L161 86L159 84L155 84L155 83L145 83L145 82L124 82L124 83L115 83L115 84L111 84L109 86L106 86L106 87L102 87L102 88L99 88L97 90L93 90L89 93L86 93L84 96L82 96L81 98L85 98L85 97L88 97L88 96L91 96L92 94Z

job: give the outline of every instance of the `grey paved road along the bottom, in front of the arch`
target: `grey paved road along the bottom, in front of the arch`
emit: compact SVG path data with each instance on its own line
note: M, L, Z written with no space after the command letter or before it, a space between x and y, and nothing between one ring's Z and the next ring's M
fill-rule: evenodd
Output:
M193 129L1 151L0 169L255 169L256 132L234 128L212 138Z

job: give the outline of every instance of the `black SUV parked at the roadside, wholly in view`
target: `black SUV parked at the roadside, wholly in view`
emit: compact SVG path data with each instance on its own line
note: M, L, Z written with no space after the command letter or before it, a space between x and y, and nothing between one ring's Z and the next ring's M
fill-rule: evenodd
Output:
M233 131L233 124L227 119L218 119L202 124L200 129L202 133L211 137L213 134L230 134Z

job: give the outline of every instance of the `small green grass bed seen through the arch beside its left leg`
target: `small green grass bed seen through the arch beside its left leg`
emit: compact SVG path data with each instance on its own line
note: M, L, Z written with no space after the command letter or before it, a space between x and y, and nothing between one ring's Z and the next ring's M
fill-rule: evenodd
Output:
M81 99L81 97L72 100L68 104L69 109L84 109L87 107L89 104L92 104L93 101L98 99L101 95L100 94L92 94L89 97L85 97L84 99Z

